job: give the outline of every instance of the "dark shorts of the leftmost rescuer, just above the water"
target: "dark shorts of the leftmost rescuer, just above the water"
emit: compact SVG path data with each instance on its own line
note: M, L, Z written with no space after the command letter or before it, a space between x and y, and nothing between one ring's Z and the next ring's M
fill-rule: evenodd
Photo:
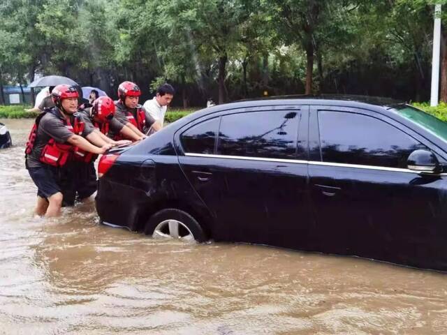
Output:
M68 170L43 165L41 168L28 168L28 173L37 186L37 195L48 199L60 192L64 196L62 206L73 206L75 204L75 190L73 177Z

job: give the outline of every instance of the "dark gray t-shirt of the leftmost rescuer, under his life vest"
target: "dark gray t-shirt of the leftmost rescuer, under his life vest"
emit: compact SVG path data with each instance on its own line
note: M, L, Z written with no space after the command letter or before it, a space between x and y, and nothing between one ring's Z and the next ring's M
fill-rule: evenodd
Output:
M54 112L55 108L52 109ZM41 168L45 163L40 161L43 147L47 142L53 138L55 142L66 144L67 140L73 135L73 132L68 130L64 124L64 117L57 112L57 115L52 112L46 112L38 124L36 140L34 141L34 148L31 154L27 155L27 168ZM76 113L75 113L76 114ZM75 116L70 117L70 122L73 125ZM93 126L85 124L82 136L85 137L94 131Z

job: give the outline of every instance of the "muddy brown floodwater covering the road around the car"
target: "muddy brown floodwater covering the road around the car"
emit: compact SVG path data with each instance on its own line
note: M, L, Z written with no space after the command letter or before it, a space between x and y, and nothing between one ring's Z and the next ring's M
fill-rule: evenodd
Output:
M447 334L447 274L35 218L32 120L0 122L0 334Z

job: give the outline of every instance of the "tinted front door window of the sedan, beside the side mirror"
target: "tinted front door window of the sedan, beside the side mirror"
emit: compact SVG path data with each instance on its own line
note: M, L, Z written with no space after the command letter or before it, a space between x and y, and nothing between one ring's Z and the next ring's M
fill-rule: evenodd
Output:
M365 114L318 111L323 162L407 168L416 149L426 149L410 135Z

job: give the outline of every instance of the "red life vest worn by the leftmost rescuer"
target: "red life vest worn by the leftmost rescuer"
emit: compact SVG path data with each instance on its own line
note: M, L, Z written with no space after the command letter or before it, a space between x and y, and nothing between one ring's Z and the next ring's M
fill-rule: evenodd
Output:
M36 142L36 136L37 136L37 129L38 125L42 119L42 117L47 113L52 113L59 117L55 112L52 110L44 111L41 114L36 117L36 121L34 121L33 128L31 128L31 133L29 133L27 146L25 149L25 154L31 154L31 151L34 149L34 144ZM65 126L68 128L69 131L72 133L75 133L76 135L82 134L82 131L84 131L84 123L80 121L79 117L75 117L75 124L74 126L71 126L71 123L69 120L63 119L62 120L65 124ZM47 144L45 144L45 147L43 147L41 152L41 157L39 160L42 163L61 167L64 166L67 161L71 158L73 152L80 150L78 147L73 147L71 144L61 144L54 141L53 138L50 138L48 140Z

